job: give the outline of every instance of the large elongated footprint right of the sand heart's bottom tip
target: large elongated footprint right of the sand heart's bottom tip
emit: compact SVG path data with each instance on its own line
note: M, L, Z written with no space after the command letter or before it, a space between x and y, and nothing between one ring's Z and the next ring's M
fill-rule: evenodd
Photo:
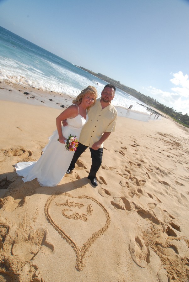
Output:
M149 264L150 251L149 248L146 247L143 239L137 236L135 240L131 240L129 251L133 261L141 268L144 268Z

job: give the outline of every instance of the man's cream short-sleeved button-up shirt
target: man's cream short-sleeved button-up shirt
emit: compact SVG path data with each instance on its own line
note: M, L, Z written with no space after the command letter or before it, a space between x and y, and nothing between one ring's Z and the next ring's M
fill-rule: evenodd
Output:
M100 140L104 132L115 131L117 110L112 105L112 102L102 109L100 99L96 100L95 106L89 108L89 120L81 130L79 142L85 146L91 147ZM101 144L100 148L103 148L103 144Z

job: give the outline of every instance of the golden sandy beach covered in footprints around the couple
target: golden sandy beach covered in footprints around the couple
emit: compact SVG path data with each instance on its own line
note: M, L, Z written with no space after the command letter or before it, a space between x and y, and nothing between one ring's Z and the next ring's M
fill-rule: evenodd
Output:
M14 164L40 158L71 98L0 87L0 281L188 281L189 129L119 110L97 187L89 149L59 185L40 187Z

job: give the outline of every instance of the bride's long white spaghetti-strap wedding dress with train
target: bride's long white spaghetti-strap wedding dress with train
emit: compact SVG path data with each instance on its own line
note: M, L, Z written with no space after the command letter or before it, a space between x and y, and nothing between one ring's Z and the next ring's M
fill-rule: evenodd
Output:
M79 112L75 118L67 118L68 126L62 126L62 134L68 138L70 134L79 136L81 129L88 121L83 118ZM58 139L58 131L54 131L49 137L49 143L43 149L43 154L37 162L20 162L15 164L16 173L24 176L24 182L31 181L37 178L41 186L56 186L64 177L74 152L68 151L65 144L61 144Z

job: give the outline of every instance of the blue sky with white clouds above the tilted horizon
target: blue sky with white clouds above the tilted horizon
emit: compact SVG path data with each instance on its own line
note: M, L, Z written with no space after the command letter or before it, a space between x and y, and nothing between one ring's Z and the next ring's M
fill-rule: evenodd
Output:
M189 114L189 1L0 0L0 25Z

